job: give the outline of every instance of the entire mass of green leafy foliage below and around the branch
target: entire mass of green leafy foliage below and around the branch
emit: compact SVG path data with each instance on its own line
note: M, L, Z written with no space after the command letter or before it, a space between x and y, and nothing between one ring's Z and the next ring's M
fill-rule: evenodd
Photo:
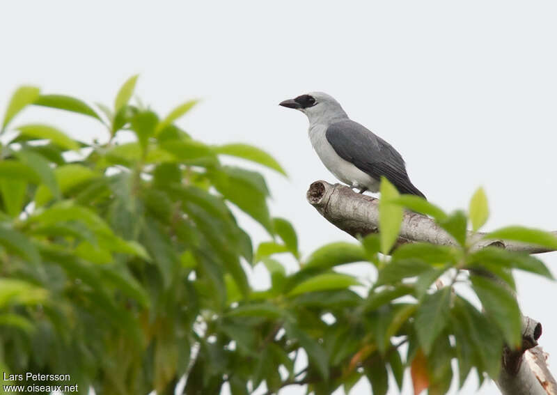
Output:
M417 392L443 394L453 359L460 385L472 370L480 381L496 377L503 346L520 336L512 270L552 277L531 256L474 249L466 224L476 231L487 220L481 189L466 217L398 196L383 180L380 235L302 258L292 224L269 214L265 179L221 155L285 173L280 164L246 144L207 146L175 125L196 100L165 118L130 104L136 82L125 82L113 108L29 86L10 100L0 158L0 364L8 373L69 373L100 394L173 394L186 375L187 395L218 394L225 384L249 394L263 383L269 392L307 384L320 395L349 392L361 378L385 394L389 375L402 388L405 369ZM33 105L96 119L106 142L40 123L12 126ZM122 130L135 140L120 143ZM269 240L254 248L230 206ZM391 251L404 208L431 215L458 244ZM557 245L519 227L487 237ZM299 270L286 270L285 255ZM377 280L336 270L354 262L368 262ZM252 265L269 272L267 290L253 290ZM469 269L492 276L470 278ZM455 293L455 282L481 308ZM308 364L295 371L303 353Z

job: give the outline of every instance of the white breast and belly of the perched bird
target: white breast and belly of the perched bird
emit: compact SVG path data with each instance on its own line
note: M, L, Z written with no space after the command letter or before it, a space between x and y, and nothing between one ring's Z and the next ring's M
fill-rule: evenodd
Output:
M325 133L327 125L315 124L309 127L309 139L321 162L334 174L338 180L356 188L367 188L371 192L379 190L379 182L367 173L358 169L354 164L343 160L331 146Z

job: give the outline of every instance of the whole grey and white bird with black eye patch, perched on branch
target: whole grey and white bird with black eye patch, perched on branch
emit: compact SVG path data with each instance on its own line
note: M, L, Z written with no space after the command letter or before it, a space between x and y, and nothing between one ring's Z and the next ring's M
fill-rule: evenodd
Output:
M401 194L425 198L410 182L400 153L348 118L343 107L327 93L311 92L284 100L280 105L306 114L311 144L338 180L359 189L360 193L378 192L381 176L384 176Z

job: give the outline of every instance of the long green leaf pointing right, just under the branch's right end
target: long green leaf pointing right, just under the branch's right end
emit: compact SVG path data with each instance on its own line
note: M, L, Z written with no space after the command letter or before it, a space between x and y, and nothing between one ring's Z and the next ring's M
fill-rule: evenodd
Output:
M547 277L548 279L554 279L553 274L551 274L542 261L526 252L513 252L502 248L485 247L471 254L468 257L468 262L470 265L483 266L487 270L492 270L494 267L515 268L525 272L540 274L540 276Z

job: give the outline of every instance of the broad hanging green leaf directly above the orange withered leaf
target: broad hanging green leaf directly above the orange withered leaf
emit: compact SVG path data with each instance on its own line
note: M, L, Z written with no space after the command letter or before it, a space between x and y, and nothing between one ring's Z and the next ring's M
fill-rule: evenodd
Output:
M426 295L416 313L416 333L425 355L430 355L437 336L445 329L450 312L450 287Z

